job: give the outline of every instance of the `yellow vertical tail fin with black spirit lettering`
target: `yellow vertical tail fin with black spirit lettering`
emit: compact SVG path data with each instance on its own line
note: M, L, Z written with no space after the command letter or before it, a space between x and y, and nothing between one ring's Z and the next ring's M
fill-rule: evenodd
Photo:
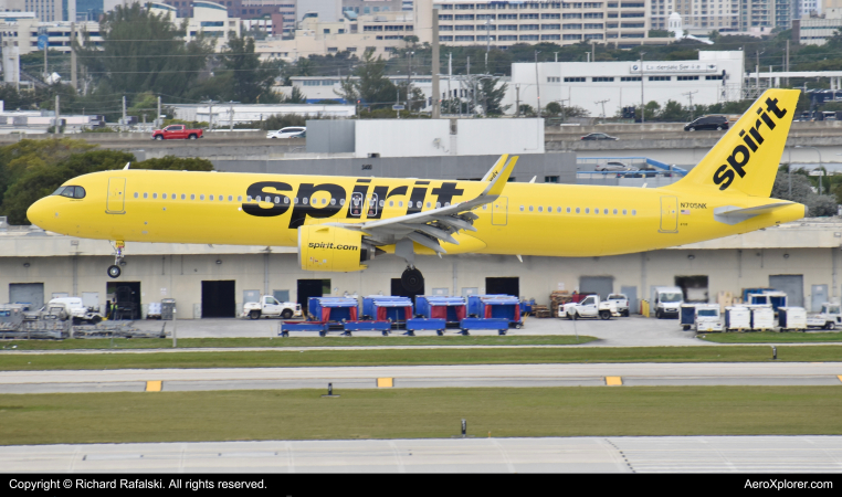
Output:
M769 197L796 114L798 89L767 89L673 188L709 187Z

